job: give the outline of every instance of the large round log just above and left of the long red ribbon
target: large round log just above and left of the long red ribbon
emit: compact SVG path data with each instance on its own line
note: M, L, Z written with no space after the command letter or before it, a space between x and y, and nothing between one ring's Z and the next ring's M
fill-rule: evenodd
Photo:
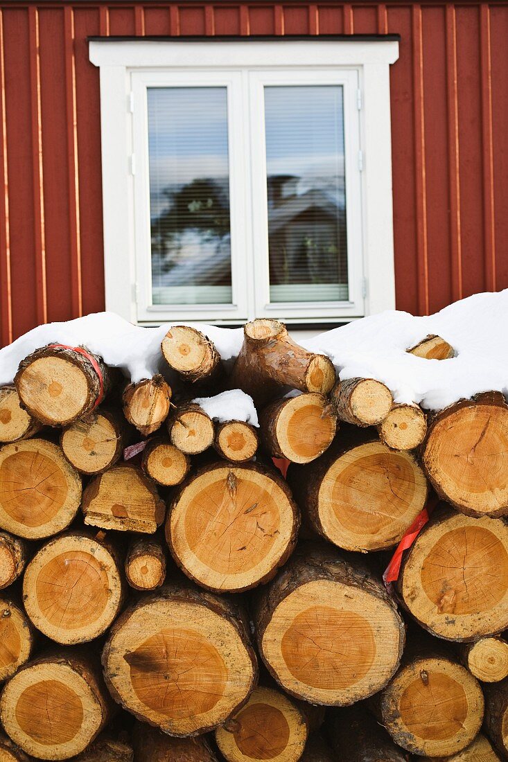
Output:
M413 454L357 428L344 427L312 469L291 464L288 482L313 530L357 552L396 545L427 499Z

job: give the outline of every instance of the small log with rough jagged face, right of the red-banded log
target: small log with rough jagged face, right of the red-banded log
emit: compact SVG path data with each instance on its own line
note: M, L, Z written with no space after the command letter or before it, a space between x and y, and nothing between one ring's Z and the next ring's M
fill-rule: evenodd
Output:
M170 400L171 389L162 376L130 383L123 395L125 418L148 437L166 421Z

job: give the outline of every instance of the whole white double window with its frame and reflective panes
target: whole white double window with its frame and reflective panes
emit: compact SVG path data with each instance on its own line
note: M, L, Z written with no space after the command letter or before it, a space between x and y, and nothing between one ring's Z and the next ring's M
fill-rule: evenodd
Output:
M376 40L92 40L107 308L336 322L394 306Z

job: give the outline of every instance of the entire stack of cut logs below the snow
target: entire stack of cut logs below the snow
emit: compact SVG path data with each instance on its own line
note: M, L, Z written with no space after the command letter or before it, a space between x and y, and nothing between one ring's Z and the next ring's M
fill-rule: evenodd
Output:
M508 759L503 395L396 404L275 320L160 360L0 389L0 760Z

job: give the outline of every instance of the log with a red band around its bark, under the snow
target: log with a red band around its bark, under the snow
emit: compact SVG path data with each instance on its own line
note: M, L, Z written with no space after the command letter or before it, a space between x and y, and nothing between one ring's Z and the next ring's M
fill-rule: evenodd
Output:
M111 374L85 347L48 344L21 360L14 378L21 405L48 426L85 418L108 394Z

